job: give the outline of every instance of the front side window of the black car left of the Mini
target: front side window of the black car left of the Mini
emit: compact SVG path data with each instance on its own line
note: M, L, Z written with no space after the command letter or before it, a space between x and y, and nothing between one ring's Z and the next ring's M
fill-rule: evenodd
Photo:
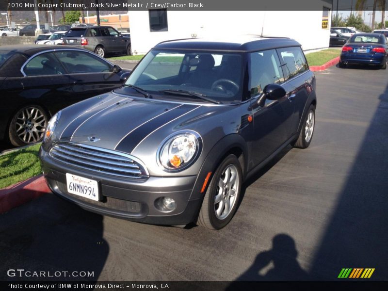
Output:
M100 58L82 51L57 51L55 55L70 74L110 72L111 67Z

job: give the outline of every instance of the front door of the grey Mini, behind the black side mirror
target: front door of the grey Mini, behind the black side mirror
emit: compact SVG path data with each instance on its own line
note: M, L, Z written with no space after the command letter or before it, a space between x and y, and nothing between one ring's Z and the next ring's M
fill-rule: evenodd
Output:
M249 54L249 88L254 132L250 139L254 165L263 162L288 139L286 123L293 105L284 96L278 100L263 97L266 85L284 81L283 71L275 49Z

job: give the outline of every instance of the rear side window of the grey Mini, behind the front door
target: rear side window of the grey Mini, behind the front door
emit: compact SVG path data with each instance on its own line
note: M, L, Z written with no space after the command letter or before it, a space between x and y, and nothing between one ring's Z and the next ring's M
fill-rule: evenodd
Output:
M278 52L286 80L308 69L305 55L300 47L278 49Z

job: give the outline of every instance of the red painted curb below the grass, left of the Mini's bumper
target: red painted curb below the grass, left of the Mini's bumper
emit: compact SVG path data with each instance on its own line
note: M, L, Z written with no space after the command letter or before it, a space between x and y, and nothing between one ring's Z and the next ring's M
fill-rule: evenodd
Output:
M43 194L51 193L43 175L0 189L0 214L31 201Z

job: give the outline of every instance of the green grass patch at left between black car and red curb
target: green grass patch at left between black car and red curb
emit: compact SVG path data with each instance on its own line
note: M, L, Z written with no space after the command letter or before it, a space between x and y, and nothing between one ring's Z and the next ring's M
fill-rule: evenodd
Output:
M38 160L40 145L0 156L0 189L42 173Z

